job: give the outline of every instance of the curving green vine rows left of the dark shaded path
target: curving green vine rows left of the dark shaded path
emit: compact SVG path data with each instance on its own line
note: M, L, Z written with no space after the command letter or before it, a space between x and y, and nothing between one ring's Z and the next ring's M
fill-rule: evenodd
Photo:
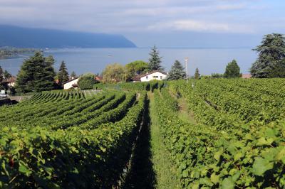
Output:
M145 92L58 91L0 107L0 188L118 185L145 102Z

